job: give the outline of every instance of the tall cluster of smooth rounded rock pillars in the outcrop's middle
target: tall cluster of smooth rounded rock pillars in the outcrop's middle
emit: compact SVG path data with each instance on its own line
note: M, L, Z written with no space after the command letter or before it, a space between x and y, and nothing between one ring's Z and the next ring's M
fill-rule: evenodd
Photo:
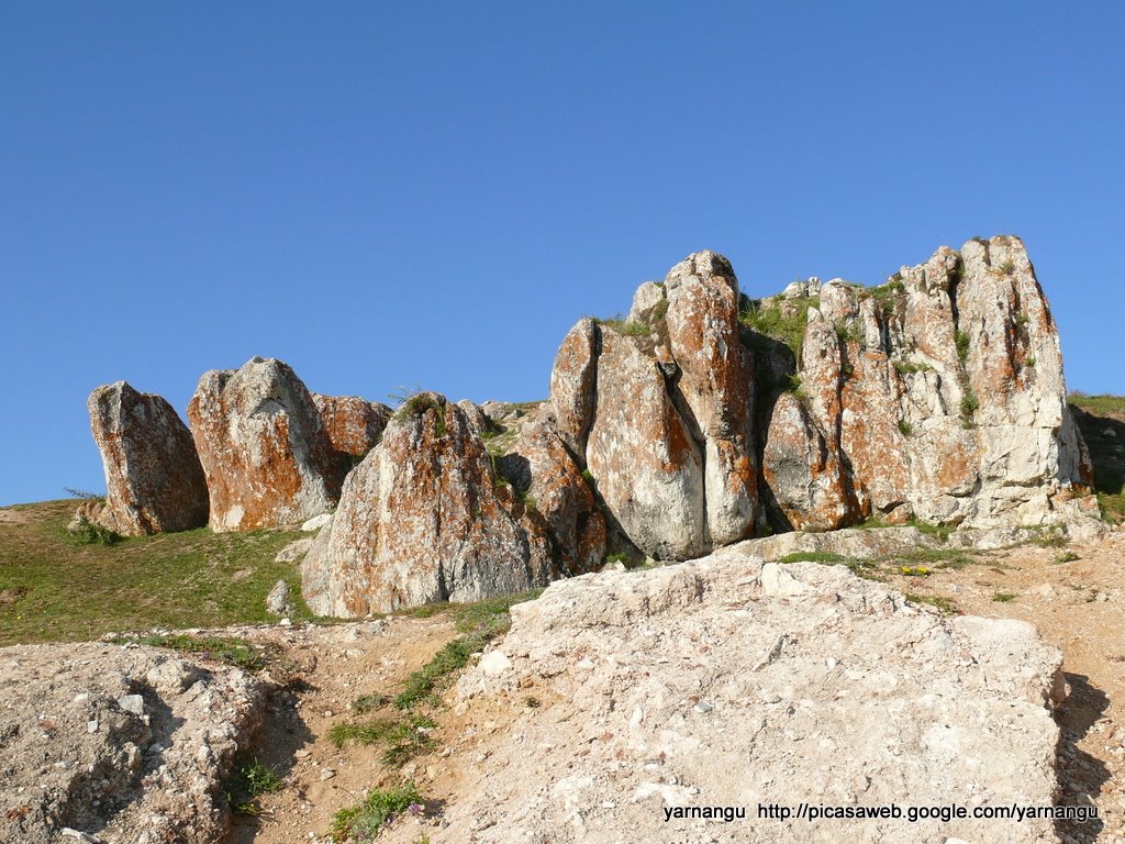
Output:
M684 559L757 518L753 359L730 263L700 252L633 297L629 320L583 320L551 372L551 417L601 502L644 554Z

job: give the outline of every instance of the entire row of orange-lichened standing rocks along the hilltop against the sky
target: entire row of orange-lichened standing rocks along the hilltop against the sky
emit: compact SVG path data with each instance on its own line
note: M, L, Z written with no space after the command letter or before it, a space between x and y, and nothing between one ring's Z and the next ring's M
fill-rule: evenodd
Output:
M146 413L114 423L123 439L174 427ZM305 564L325 614L523 589L608 550L687 559L867 519L1005 529L1092 510L1058 331L1006 236L943 246L879 287L810 279L764 299L698 252L641 285L627 320L579 321L541 404L421 394L392 420L255 358L207 372L188 416L215 530L326 513L351 470ZM141 463L181 451L161 441ZM172 524L168 506L146 514L162 487L144 472L118 472L127 492L110 482L122 532Z

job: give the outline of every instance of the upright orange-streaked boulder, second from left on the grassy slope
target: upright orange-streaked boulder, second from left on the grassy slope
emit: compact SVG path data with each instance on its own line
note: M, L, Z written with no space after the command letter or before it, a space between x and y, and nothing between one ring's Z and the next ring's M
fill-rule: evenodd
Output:
M188 405L216 531L291 524L332 509L342 467L312 394L279 360L212 370Z

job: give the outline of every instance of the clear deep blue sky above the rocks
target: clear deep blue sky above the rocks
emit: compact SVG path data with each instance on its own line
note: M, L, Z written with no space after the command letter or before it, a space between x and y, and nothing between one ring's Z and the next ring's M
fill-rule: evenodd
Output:
M547 392L713 249L752 295L1020 234L1125 393L1125 5L0 6L0 504L104 490L86 397L281 358Z

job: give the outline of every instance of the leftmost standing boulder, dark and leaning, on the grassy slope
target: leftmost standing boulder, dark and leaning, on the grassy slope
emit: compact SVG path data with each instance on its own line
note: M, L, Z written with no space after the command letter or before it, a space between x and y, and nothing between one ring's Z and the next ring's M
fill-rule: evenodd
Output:
M86 515L126 536L207 523L207 486L187 425L166 401L125 381L90 394L90 429L106 472L106 505Z

